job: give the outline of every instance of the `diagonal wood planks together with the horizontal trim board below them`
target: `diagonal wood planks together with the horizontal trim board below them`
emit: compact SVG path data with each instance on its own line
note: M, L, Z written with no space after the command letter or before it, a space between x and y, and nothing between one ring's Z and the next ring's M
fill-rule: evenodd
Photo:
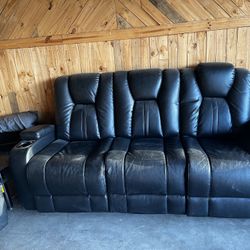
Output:
M2 0L0 49L176 35L249 23L249 0Z

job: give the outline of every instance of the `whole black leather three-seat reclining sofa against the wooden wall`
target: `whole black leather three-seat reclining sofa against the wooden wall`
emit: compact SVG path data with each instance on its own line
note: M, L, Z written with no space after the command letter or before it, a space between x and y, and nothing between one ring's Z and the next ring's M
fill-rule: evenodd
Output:
M250 217L247 70L63 76L55 97L56 129L22 132L11 153L25 208Z

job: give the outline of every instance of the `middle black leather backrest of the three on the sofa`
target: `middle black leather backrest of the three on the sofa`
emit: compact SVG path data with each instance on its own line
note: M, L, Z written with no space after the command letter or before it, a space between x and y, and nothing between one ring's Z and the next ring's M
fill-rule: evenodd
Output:
M116 136L163 137L179 133L177 69L114 74Z

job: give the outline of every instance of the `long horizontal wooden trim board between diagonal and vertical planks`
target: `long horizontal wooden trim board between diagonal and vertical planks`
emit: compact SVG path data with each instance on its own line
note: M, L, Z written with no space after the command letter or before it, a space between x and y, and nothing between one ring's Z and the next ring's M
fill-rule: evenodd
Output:
M222 18L211 21L195 21L178 24L168 24L152 27L141 27L126 29L86 32L84 34L69 34L69 35L53 35L47 37L24 38L12 40L0 40L0 49L15 49L40 47L62 44L76 44L89 42L102 42L113 40L126 40L134 38L145 38L164 35L177 35L181 33L193 33L210 30L222 30L229 28L249 27L250 17L242 18Z

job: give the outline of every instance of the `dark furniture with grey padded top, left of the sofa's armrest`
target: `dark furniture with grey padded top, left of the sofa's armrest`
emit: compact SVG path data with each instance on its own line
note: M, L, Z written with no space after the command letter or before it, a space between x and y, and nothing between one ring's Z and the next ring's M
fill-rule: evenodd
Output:
M0 179L2 179L5 201L11 208L14 195L13 181L9 171L9 152L20 141L20 132L32 127L38 119L37 112L22 112L0 117Z

